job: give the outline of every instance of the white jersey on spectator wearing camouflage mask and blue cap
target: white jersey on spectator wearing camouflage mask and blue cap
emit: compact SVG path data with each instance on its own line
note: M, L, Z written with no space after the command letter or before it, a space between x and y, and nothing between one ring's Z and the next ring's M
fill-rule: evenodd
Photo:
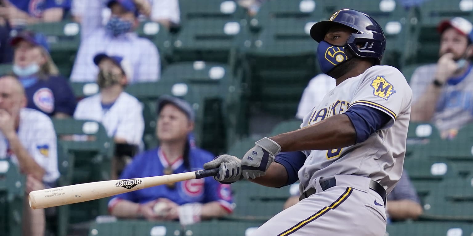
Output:
M101 122L108 136L124 138L129 144L140 145L143 137L143 106L125 92L113 104L102 104L100 93L79 101L74 118Z

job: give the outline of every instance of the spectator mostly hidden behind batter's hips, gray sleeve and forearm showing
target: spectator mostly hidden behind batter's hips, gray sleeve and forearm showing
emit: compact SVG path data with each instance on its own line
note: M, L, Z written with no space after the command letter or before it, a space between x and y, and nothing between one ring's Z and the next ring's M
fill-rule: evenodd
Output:
M290 194L284 203L284 209L299 202L298 183L290 186ZM386 212L388 221L417 219L422 214L419 197L405 169L399 182L387 196Z

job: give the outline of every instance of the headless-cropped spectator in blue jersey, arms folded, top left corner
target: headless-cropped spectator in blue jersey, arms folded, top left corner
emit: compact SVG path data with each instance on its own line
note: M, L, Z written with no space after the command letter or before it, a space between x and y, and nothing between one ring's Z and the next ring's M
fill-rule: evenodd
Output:
M64 16L66 0L3 0L0 16L13 28L38 22L57 22Z

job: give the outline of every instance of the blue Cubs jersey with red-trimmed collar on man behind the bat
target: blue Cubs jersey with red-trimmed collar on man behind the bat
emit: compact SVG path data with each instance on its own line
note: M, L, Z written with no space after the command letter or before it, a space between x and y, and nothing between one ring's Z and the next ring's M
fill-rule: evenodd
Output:
M169 166L174 170L174 173L200 170L204 163L212 159L213 155L210 152L196 147L191 148L189 152L191 169L186 169L183 159L169 163L161 149L155 148L135 156L133 161L123 170L120 179L164 175L164 169ZM174 188L159 185L119 194L110 200L109 206L114 205L119 199L145 203L158 198L167 198L178 205L192 202L208 203L217 201L227 211L231 212L234 208L230 185L220 184L213 177L176 182Z

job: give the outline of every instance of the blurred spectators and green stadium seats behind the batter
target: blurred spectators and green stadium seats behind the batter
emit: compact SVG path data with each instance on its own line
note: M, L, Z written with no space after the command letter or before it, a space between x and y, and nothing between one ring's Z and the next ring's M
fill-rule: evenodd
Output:
M310 27L342 8L377 20L382 64L413 90L386 235L473 234L473 0L0 0L0 235L250 236L297 184L206 178L45 210L27 194L202 169L299 128L335 86Z

